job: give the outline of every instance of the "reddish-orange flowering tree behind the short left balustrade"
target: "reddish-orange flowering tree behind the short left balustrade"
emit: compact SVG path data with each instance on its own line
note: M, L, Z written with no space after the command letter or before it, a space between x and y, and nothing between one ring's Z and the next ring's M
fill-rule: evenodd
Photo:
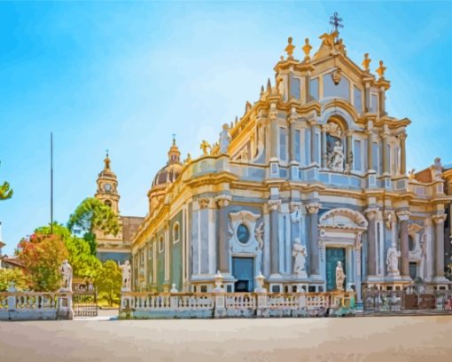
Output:
M67 258L66 246L60 235L36 232L20 240L16 253L33 290L55 291L60 287L60 267Z

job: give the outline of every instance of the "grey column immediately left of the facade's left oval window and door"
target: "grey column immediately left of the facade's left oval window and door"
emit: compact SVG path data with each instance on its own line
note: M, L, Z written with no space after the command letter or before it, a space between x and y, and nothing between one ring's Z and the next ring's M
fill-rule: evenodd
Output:
M230 195L215 197L218 205L218 233L216 238L216 270L230 273L230 249L228 248L228 205Z

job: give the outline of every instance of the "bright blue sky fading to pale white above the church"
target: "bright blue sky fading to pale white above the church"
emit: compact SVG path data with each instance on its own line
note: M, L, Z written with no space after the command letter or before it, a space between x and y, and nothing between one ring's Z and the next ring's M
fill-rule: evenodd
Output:
M199 155L273 79L287 37L316 49L333 12L351 59L385 62L387 110L412 121L409 169L452 161L450 3L0 3L4 253L49 222L51 131L58 221L95 193L107 148L121 214L144 216L171 134Z

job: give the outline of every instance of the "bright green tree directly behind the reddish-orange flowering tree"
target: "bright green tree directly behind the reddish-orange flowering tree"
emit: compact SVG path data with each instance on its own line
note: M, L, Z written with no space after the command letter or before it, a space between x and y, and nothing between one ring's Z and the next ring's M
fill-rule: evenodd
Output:
M43 226L35 232L51 235L51 227ZM53 233L60 236L66 245L67 260L73 268L74 277L94 280L101 263L91 254L89 242L74 236L69 229L58 223L53 224Z

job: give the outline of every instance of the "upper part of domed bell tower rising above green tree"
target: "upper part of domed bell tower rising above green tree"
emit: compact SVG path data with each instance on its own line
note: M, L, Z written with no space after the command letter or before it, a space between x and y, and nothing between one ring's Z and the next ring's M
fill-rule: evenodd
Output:
M113 209L116 215L119 215L120 194L118 193L118 180L116 175L110 169L110 158L108 157L108 150L104 160L104 169L97 177L97 192L94 197L105 205Z

